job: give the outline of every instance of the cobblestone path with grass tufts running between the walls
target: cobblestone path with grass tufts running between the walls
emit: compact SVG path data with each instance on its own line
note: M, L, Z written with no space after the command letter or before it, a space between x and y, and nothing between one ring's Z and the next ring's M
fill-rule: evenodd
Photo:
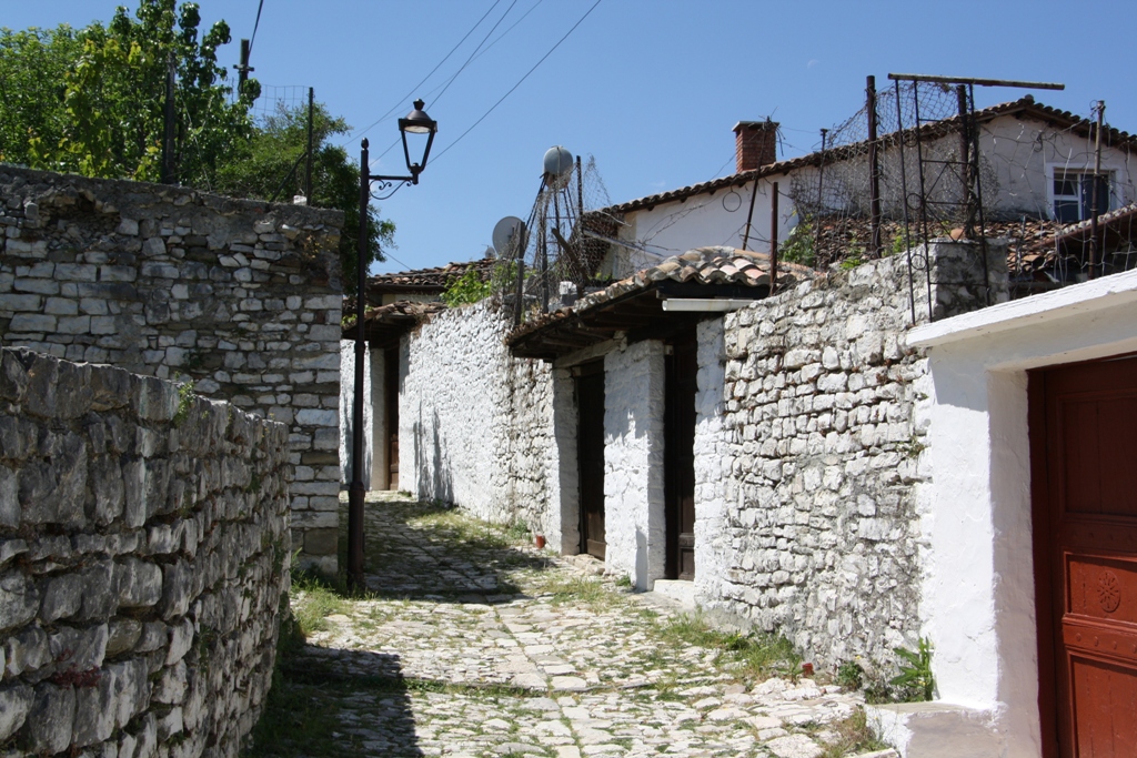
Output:
M757 675L692 643L699 619L524 533L373 494L366 540L366 598L294 589L310 628L252 755L895 756L865 751L858 694L796 660Z

